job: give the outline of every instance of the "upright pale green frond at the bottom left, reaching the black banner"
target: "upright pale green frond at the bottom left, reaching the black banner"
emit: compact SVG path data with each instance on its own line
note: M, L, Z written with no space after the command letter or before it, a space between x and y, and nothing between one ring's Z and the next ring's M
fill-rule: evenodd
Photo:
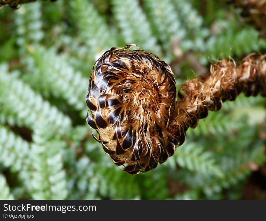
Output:
M65 143L57 140L32 144L33 171L29 189L33 199L66 199L68 190L62 157L64 147Z

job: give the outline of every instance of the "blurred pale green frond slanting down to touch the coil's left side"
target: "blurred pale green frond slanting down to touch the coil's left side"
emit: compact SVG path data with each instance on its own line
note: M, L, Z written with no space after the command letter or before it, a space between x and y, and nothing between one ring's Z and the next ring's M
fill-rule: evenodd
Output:
M33 69L33 73L28 76L33 86L40 85L40 91L46 91L46 95L64 98L76 110L83 110L82 116L86 116L84 97L88 80L79 71L74 71L66 58L57 55L53 48L46 50L41 45L35 45L30 48L30 54L37 67L37 71Z

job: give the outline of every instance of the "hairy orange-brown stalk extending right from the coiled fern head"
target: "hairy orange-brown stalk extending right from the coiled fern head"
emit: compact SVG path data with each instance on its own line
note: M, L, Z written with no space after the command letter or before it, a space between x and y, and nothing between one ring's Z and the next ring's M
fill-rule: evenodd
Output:
M184 142L188 127L196 127L208 111L218 111L224 101L234 101L241 92L245 96L266 96L266 55L250 54L237 66L233 60L224 58L211 65L210 76L188 80L178 91L177 111L169 131ZM182 94L182 91L184 94Z

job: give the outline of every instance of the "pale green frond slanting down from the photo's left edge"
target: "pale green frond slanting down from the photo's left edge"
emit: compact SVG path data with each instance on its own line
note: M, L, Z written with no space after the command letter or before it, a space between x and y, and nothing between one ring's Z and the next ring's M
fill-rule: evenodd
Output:
M9 124L34 129L37 124L50 122L58 134L66 133L71 126L69 117L61 113L27 84L7 72L7 66L0 66L0 110L7 116Z

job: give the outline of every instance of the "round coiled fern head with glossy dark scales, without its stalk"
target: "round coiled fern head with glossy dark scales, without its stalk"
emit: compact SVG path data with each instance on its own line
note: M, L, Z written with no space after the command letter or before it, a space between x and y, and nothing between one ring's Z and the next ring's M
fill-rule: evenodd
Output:
M169 65L154 54L112 48L96 62L86 103L88 124L116 165L131 174L154 169L175 151L167 128L176 87Z

